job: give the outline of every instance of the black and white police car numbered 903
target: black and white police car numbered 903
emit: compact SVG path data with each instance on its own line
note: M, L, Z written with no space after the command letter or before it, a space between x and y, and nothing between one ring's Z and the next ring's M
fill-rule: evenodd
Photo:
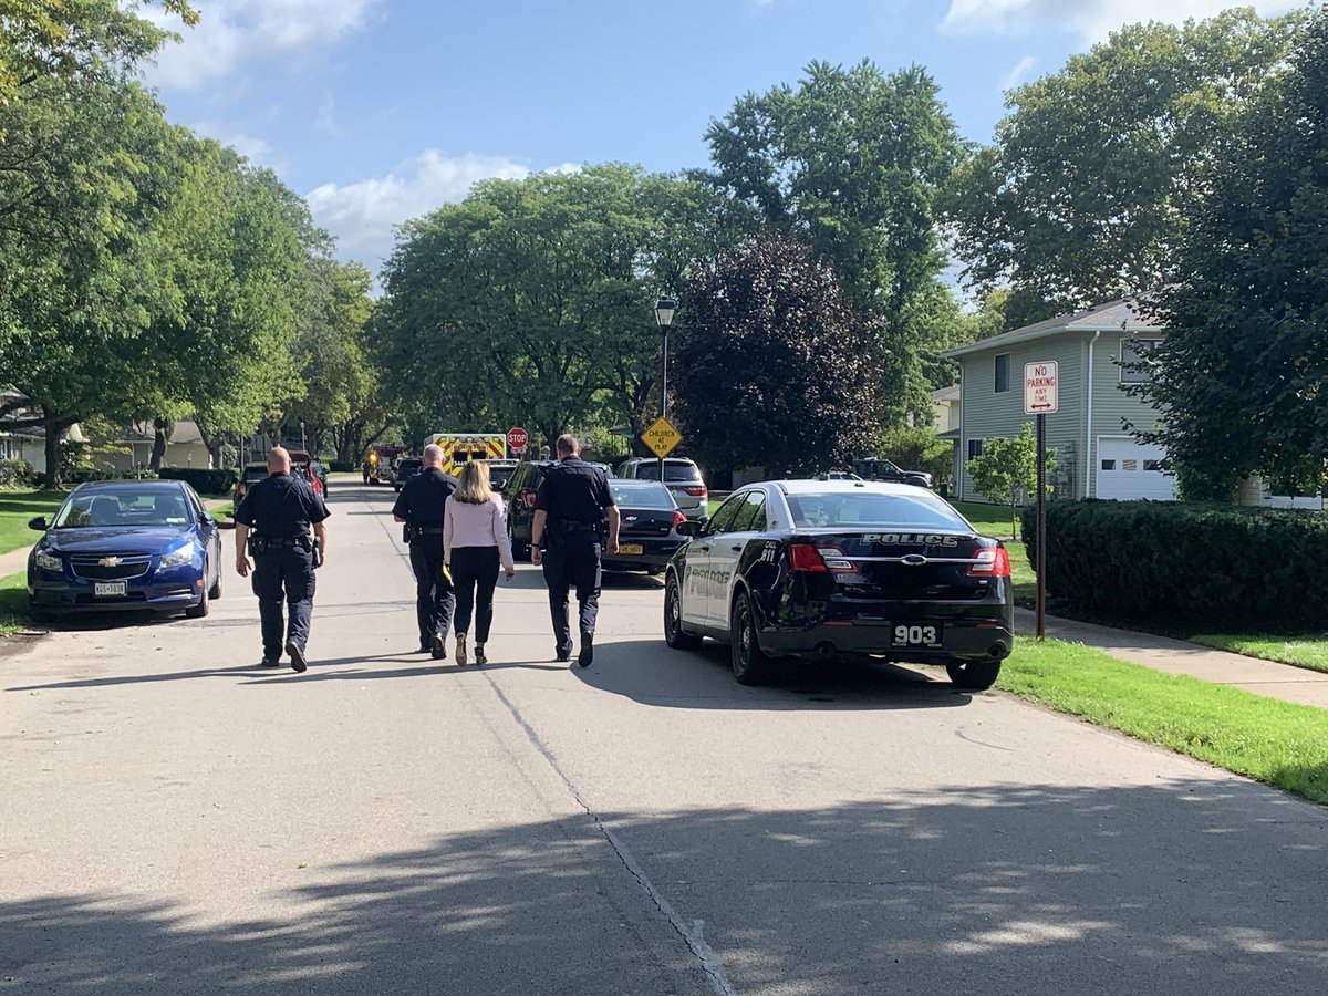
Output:
M1009 554L931 491L769 481L734 491L669 560L664 637L732 647L753 684L780 656L943 664L989 688L1013 645Z

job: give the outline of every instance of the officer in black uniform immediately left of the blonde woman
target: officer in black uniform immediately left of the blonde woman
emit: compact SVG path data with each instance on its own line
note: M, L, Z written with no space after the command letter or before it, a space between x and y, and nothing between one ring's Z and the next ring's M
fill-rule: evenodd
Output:
M445 641L457 607L452 578L442 570L442 513L457 490L457 479L442 473L441 446L429 444L422 457L424 470L401 486L392 518L406 523L410 570L416 575L420 652L441 660L448 655Z

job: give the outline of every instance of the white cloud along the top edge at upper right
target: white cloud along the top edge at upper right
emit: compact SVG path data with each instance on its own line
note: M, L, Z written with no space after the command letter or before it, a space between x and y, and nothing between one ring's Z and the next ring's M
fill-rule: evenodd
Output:
M1234 0L950 0L942 29L952 35L1027 35L1046 28L1078 35L1085 44L1105 41L1126 24L1190 17L1203 20L1235 5ZM1286 13L1301 0L1254 0L1264 17Z

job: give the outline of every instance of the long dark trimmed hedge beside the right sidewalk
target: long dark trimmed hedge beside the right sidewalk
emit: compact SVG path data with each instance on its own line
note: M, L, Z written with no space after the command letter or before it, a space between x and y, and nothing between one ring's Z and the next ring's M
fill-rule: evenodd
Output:
M1037 563L1036 509L1024 510ZM1308 586L1328 563L1328 515L1189 502L1046 505L1046 590L1081 611L1224 631L1328 628Z

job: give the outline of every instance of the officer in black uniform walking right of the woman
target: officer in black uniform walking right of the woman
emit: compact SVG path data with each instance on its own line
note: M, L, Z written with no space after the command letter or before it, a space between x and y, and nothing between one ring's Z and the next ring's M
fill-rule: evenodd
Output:
M606 543L610 554L618 552L619 515L604 471L580 458L580 442L575 436L558 437L558 461L544 474L535 494L530 556L533 563L544 568L558 660L572 656L567 592L572 584L576 586L582 640L576 663L586 668L595 656L599 558Z

